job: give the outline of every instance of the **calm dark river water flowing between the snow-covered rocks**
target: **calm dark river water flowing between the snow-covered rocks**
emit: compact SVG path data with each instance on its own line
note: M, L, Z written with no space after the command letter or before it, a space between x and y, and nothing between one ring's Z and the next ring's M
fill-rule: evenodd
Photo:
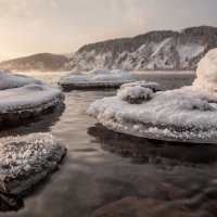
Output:
M29 75L48 81L59 76ZM190 85L195 77L137 76L161 81L164 89ZM2 137L49 131L68 149L60 170L30 192L17 212L2 212L1 217L135 217L137 212L143 217L146 210L161 217L217 216L217 145L139 140L106 130L86 111L95 99L114 94L67 92L64 108L0 132Z

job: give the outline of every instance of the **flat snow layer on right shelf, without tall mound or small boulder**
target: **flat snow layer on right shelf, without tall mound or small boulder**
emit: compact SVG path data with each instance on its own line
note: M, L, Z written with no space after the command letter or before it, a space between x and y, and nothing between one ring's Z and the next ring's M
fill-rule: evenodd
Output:
M93 102L88 113L108 129L140 137L153 129L158 130L155 138L181 140L217 132L217 95L193 87L153 93L152 100L139 105L118 95L104 98ZM165 135L166 130L169 133Z

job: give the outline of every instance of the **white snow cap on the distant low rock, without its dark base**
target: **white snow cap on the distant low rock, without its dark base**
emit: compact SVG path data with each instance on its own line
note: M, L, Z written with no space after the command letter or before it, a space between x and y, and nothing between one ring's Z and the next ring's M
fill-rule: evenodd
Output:
M135 78L128 72L95 68L90 72L82 72L79 75L75 73L66 74L60 78L59 84L62 86L115 86L132 81L135 81Z

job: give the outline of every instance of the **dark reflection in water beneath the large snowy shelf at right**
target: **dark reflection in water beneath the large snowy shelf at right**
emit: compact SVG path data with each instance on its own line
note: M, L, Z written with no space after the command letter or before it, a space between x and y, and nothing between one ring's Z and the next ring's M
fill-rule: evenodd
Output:
M189 144L151 140L118 133L106 129L100 124L88 129L105 151L130 157L137 164L157 164L166 166L215 166L217 162L217 145ZM192 149L196 149L192 152Z

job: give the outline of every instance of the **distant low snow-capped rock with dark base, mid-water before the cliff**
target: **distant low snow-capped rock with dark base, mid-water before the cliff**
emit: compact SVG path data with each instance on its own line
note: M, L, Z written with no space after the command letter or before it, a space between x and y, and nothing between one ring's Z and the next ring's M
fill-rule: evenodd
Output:
M136 79L132 78L129 72L97 68L89 72L75 69L62 76L59 84L65 90L73 90L118 88L123 84L132 81L136 81Z

